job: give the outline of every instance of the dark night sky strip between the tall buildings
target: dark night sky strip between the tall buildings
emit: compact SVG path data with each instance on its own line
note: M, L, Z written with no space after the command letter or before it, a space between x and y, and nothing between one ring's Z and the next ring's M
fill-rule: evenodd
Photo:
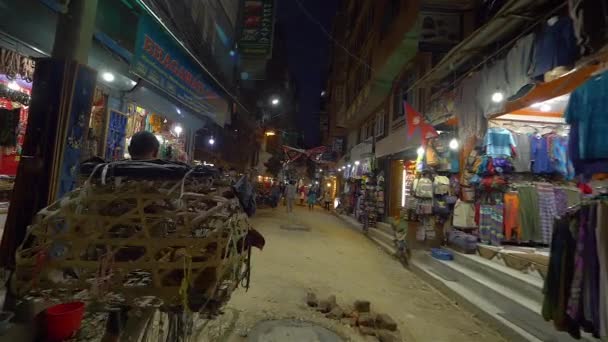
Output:
M319 106L329 61L329 38L295 0L277 0L277 19L287 39L288 63L297 84L297 125L303 127L306 147L321 143ZM300 0L310 14L331 32L337 0Z

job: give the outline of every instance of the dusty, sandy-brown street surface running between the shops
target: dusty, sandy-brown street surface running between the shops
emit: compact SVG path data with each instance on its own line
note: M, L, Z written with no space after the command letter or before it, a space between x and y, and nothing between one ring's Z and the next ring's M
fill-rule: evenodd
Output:
M335 295L345 309L355 300L369 300L372 311L396 321L403 341L504 340L361 232L321 209L298 208L291 217L284 207L262 210L252 223L264 234L266 247L254 251L251 288L233 294L225 315L208 327L206 339L275 341L254 336L252 328L260 321L294 319L316 323L345 340L367 341L356 328L307 307L306 294L313 291L319 299Z

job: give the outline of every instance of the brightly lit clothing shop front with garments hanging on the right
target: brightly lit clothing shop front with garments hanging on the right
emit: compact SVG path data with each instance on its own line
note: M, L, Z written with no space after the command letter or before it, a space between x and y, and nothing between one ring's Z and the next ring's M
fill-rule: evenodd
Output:
M559 274L580 271L590 277L589 286L605 288L591 274L601 273L597 267L605 267L607 260L607 226L600 219L608 212L608 149L603 143L608 125L601 114L608 108L608 53L599 50L577 61L568 17L556 16L543 25L456 86L454 110L460 141L466 143L459 184L450 179L447 187L446 199L455 203L445 212L450 217L445 231L448 246L479 254L471 260L485 258L538 278L534 282L544 281L551 290L544 293L543 316L557 326L569 311L553 303L591 298L573 295L569 289L581 283L576 278L556 281ZM567 34L546 30L554 25L563 25ZM539 50L537 44L547 39L562 50ZM515 58L525 51L526 58ZM512 64L511 58L521 63ZM505 69L505 63L517 67ZM441 183L425 172L433 158L429 146L420 158L421 177L413 191L419 198L417 214L437 216L443 212L435 191ZM426 206L423 198L428 198ZM575 260L589 260L596 268L580 270ZM586 303L585 310L602 309ZM584 330L605 337L600 331L604 323L583 327L573 321L568 333L580 338Z

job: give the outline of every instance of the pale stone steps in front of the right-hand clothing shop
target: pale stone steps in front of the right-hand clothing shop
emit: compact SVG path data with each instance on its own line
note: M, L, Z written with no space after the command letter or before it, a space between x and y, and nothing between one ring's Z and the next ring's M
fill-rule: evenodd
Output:
M420 277L513 341L574 341L540 315L540 284L508 270L501 274L503 270L466 257L455 253L454 261L442 261L416 251L410 265Z

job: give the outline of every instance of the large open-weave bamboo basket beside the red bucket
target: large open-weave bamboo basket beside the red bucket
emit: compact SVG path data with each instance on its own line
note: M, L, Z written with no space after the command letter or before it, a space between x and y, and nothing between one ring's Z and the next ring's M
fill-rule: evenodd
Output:
M210 177L92 179L38 213L12 288L216 312L248 272L249 228L233 190Z

